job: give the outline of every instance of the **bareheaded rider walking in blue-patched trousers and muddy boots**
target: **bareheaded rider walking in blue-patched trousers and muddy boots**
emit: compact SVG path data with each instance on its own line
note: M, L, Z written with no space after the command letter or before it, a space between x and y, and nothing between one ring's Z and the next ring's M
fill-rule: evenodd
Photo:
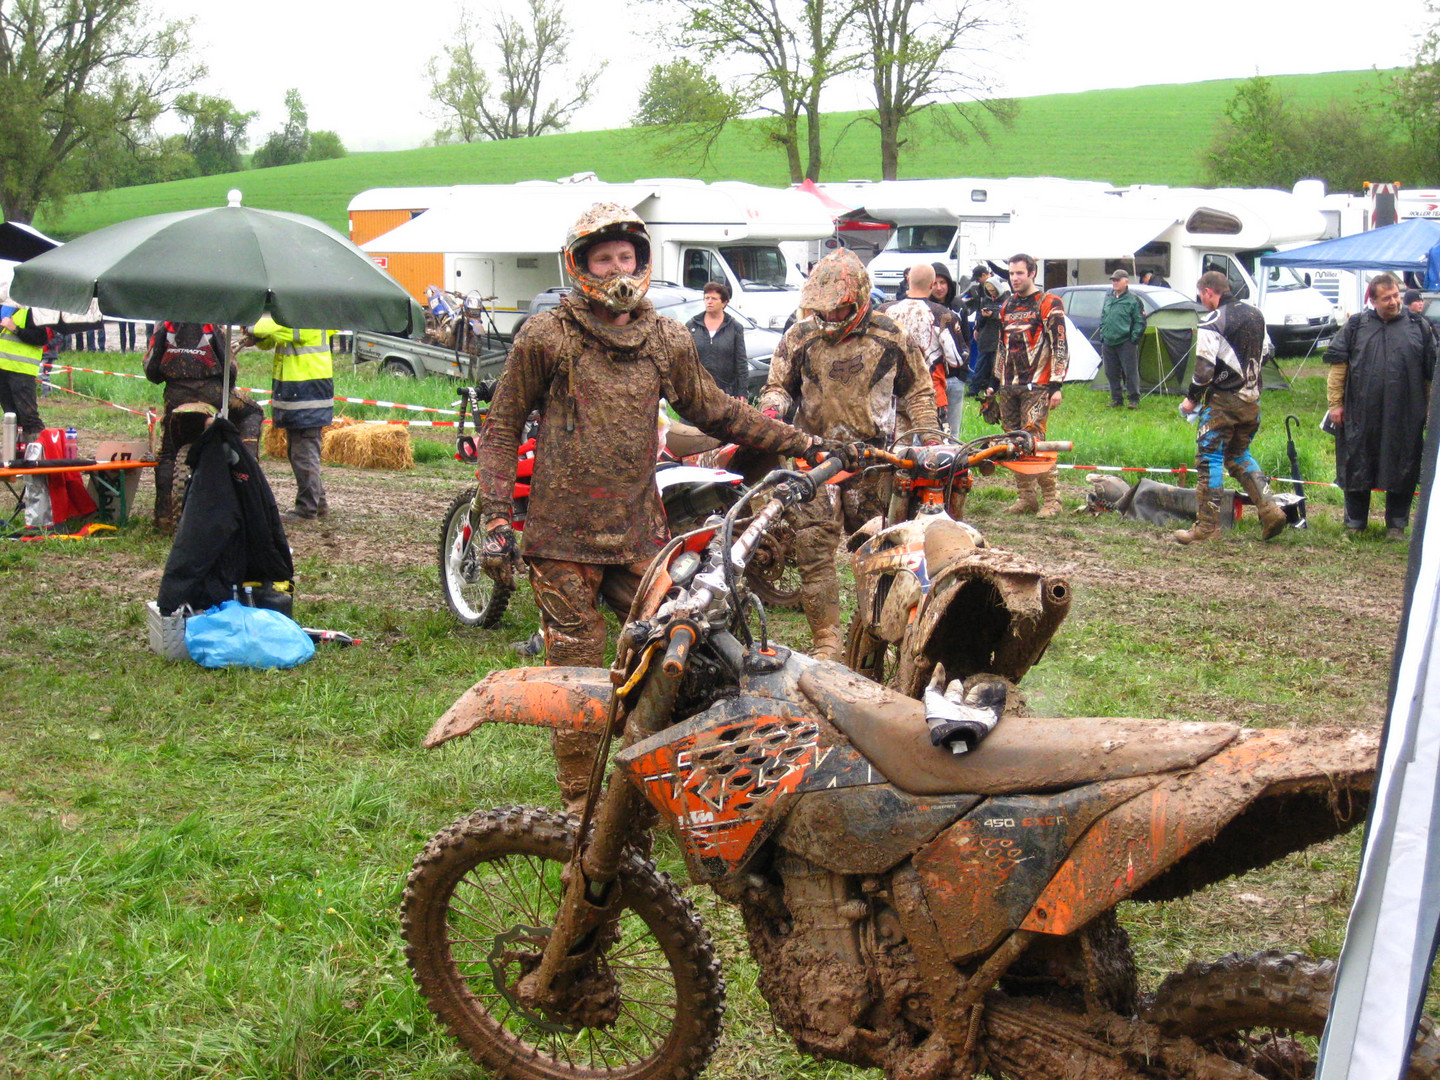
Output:
M1175 543L1192 544L1220 537L1221 467L1240 481L1260 516L1260 537L1284 530L1284 510L1270 495L1250 441L1260 431L1260 363L1264 354L1264 315L1230 292L1230 281L1210 271L1197 282L1200 302L1211 314L1195 337L1195 370L1181 402L1185 415L1200 412L1195 432L1195 527L1178 528Z

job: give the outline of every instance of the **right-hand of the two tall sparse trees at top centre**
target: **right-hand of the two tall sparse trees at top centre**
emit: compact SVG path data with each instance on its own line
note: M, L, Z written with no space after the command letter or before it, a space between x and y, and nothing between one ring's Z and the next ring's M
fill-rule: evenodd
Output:
M995 98L984 58L1014 27L1004 0L860 0L865 52L880 128L880 174L894 180L901 132L926 107L946 134L963 143L986 137L986 121L1009 124L1015 102Z

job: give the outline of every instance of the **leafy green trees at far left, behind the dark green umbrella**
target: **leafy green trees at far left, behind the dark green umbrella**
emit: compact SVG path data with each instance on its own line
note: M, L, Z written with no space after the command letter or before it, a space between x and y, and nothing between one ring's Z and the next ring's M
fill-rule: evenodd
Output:
M256 112L200 94L193 20L157 22L141 0L0 3L0 212L30 222L76 192L233 173ZM298 91L251 166L341 157L310 131ZM179 132L164 132L168 117Z

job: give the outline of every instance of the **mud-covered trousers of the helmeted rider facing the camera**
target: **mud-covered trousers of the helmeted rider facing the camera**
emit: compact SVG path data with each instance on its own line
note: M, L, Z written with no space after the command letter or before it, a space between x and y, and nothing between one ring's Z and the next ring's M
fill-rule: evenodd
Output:
M624 619L649 563L605 566L559 559L526 559L526 563L530 567L530 589L540 608L546 664L605 667L605 615L599 605L603 600ZM556 730L550 736L560 796L572 812L585 802L599 746L600 736L590 732Z

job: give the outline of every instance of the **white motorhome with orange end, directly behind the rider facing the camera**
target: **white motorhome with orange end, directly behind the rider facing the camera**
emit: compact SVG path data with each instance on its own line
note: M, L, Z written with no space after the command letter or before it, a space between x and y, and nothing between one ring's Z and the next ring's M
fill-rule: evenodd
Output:
M389 189L383 199L357 196L351 233L373 228L366 215L382 202L405 202L405 190ZM426 202L403 223L360 242L361 249L387 269L403 268L403 276L395 276L412 295L441 285L485 298L501 334L514 331L531 297L563 284L566 230L592 203L619 203L645 220L655 279L687 288L723 281L736 310L775 328L795 311L802 281L779 243L829 236L835 228L811 196L744 183L612 184L585 174L554 183L462 184Z

